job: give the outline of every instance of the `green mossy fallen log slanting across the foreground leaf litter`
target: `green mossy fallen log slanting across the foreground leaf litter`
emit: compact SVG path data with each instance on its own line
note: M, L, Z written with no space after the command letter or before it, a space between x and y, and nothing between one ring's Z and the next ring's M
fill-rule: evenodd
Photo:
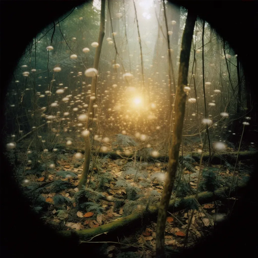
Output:
M234 193L236 191L243 188L245 184L241 184L238 187L236 187ZM205 204L210 203L215 200L222 200L227 198L227 193L229 192L229 187L223 187L220 189L217 189L214 191L214 195L212 192L201 192L198 194L198 202L199 204ZM232 195L233 196L233 195ZM192 195L184 197L182 199L176 198L176 201L179 201L179 205L177 207L174 206L175 200L171 200L169 203L169 209L172 209L174 207L174 212L180 211L184 209L184 201L187 199L194 199ZM126 217L120 217L115 221L112 221L110 223L104 224L100 227L96 228L90 228L90 229L84 229L84 230L62 230L58 233L61 236L64 237L71 237L76 236L79 240L86 240L88 238L94 237L99 234L103 233L111 233L111 232L117 232L123 228L132 228L132 224L137 223L148 223L149 218L153 217L155 219L155 216L158 213L158 207L150 205L148 206L148 210L144 209L141 211L133 212L132 214L126 216ZM135 228L135 227L134 227Z

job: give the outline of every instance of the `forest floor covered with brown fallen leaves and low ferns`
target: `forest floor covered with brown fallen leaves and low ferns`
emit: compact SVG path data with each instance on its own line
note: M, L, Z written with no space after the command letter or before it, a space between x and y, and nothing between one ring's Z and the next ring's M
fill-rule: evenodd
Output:
M115 141L115 137L110 140L111 142ZM73 142L73 144L77 148L83 148L82 141L78 140L78 142ZM105 144L105 146L108 147L107 151L112 151L112 148L113 150L117 149L119 144ZM98 148L95 145L92 147L92 150L98 150ZM131 146L123 147L123 151L132 151L132 148ZM187 143L183 146L184 153L197 151L199 148L199 143ZM235 149L227 147L225 151L235 151ZM159 152L165 155L165 149ZM51 161L48 162L51 163ZM186 195L190 195L195 193L197 188L199 163L192 162L190 159L186 164L186 166L184 163L180 165L179 169L182 169L182 181L189 187ZM158 204L163 190L163 179L160 175L166 172L167 165L166 162L157 162L155 160L147 163L144 160L139 162L124 158L114 160L108 158L108 156L95 159L93 156L86 186L93 190L93 194L87 197L84 206L78 203L78 197L76 197L77 199L75 198L76 193L79 192L78 184L82 173L83 159L75 159L74 151L63 150L60 152L55 162L55 168L48 169L47 174L46 171L35 174L30 173L30 170L26 170L23 179L30 180L34 186L37 184L37 188L42 189L40 195L42 198L41 202L44 199L44 204L39 204L40 202L38 202L37 198L36 201L34 200L34 206L32 207L36 207L35 211L38 211L45 224L49 224L56 230L82 230L99 227L121 216L127 216L137 211L137 209L140 212L144 205L146 207L146 204ZM202 168L205 166L207 164L204 163ZM209 166L216 169L217 176L221 179L220 182L231 181L233 167L216 164L209 164ZM248 171L251 168L241 162L238 164L238 167L241 169L238 169L236 172L236 178L239 181L243 177L248 178ZM60 180L67 182L69 187L52 191L52 188L49 186L54 181L61 182ZM220 184L220 186L225 185L224 183ZM29 186L22 184L23 189L27 187ZM132 189L132 187L136 192L134 196L130 192L129 197L127 191ZM100 193L108 198L97 198L94 195L95 193ZM174 195L175 191L172 192L172 196ZM121 202L116 201L118 199ZM225 213L227 213L223 201L216 201L215 205L214 202L207 203L195 211L186 247L194 246L203 237L211 234L214 222L223 220ZM217 219L215 219L215 209ZM182 250L191 213L192 209L185 209L173 213L173 215L168 214L165 233L167 252ZM207 218L206 214L210 215L210 219ZM120 244L109 244L105 252L107 257L119 257L119 253L122 252L133 252L134 254L131 254L132 257L152 257L155 252L155 239L156 221L151 221L147 225L142 225L141 228L136 229L135 232L130 232L129 235L124 232L124 238ZM145 256L142 256L143 253Z

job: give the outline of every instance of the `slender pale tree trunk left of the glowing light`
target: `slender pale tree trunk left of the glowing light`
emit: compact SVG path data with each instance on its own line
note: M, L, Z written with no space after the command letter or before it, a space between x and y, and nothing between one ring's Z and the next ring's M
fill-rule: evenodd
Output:
M99 29L99 46L96 48L95 57L94 57L94 65L93 67L98 70L99 69L99 61L100 61L100 54L101 54L101 47L103 38L105 35L105 5L106 0L101 0L101 10L100 10L100 29ZM97 89L97 76L92 77L91 82L91 96L96 97L96 89ZM89 130L91 124L93 122L94 117L94 108L93 104L95 103L95 98L90 98L90 104L88 108L88 120L85 125L85 129ZM89 123L89 121L91 121ZM80 177L80 182L78 185L79 190L82 189L82 186L86 185L89 166L90 166L90 158L91 158L91 143L90 143L90 134L85 137L85 155L84 155L84 163L83 163L83 171Z

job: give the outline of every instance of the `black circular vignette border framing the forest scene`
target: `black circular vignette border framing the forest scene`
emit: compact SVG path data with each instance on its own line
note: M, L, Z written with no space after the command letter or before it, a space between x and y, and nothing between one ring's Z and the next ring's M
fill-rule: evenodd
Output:
M225 38L246 70L254 113L257 116L257 2L256 1L171 1L196 12ZM84 1L1 1L1 122L4 122L4 98L12 72L28 42L45 26ZM1 123L1 124L2 124ZM2 128L1 128L2 132ZM83 255L101 257L97 244L78 245L76 237L61 239L30 211L12 178L13 168L4 159L1 134L1 256L31 257ZM251 139L254 135L247 135ZM257 251L257 159L248 186L241 193L230 221L220 223L216 233L201 245L176 257L236 255ZM111 239L111 238L114 238ZM110 236L107 241L117 241ZM95 250L95 251L94 251ZM93 254L94 253L94 254Z

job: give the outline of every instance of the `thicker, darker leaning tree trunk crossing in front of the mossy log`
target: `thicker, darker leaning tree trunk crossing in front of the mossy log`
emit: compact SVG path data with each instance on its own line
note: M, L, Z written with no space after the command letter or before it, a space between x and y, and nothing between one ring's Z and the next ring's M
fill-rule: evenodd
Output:
M175 124L173 128L172 146L169 150L169 162L167 169L167 178L164 182L162 198L159 204L157 232L156 232L156 252L158 257L165 257L164 253L164 237L165 225L167 217L167 208L173 189L176 168L178 165L179 148L182 140L182 129L184 123L184 113L186 104L186 93L184 87L187 85L188 66L190 58L190 50L197 16L188 11L186 25L182 37L182 50L180 53L180 66L178 73L178 87L175 98Z

